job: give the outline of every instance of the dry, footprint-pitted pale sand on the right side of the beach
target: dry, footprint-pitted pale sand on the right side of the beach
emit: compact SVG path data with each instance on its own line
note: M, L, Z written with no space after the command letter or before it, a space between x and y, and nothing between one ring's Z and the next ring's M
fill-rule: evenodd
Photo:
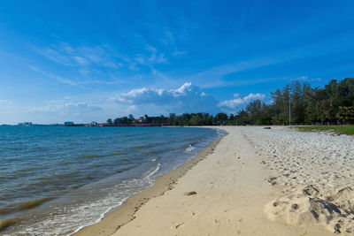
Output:
M243 133L282 188L266 205L270 218L354 233L354 139L330 133L250 128Z

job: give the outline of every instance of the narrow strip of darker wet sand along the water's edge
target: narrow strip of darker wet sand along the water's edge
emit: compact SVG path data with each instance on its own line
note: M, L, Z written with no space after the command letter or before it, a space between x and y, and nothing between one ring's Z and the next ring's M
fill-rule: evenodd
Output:
M206 127L210 128L210 127ZM212 127L218 128L218 127ZM149 202L150 199L165 194L165 192L172 190L176 186L178 179L181 179L190 169L197 163L210 156L214 149L223 138L227 136L227 131L223 130L224 135L212 141L208 146L199 150L196 156L193 156L189 162L181 164L172 171L168 171L158 176L152 186L145 188L142 192L134 194L127 198L117 209L111 209L109 212L97 223L93 225L83 226L78 232L73 232L74 236L95 236L95 235L112 235L117 232L120 227L127 225L135 219L135 212L142 208L142 206Z

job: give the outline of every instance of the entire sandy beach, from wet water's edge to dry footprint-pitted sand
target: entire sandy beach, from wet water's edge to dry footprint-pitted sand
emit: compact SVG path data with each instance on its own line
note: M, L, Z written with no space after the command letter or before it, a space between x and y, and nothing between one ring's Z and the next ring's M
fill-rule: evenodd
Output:
M350 235L354 140L285 127L227 135L75 235Z

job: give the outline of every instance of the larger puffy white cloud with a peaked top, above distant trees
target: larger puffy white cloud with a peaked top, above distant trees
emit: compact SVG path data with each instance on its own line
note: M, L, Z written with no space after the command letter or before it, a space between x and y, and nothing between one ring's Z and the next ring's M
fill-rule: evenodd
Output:
M117 103L127 103L135 110L151 107L156 114L168 112L219 112L217 101L191 83L180 88L138 88L112 98ZM150 113L150 112L149 112Z

